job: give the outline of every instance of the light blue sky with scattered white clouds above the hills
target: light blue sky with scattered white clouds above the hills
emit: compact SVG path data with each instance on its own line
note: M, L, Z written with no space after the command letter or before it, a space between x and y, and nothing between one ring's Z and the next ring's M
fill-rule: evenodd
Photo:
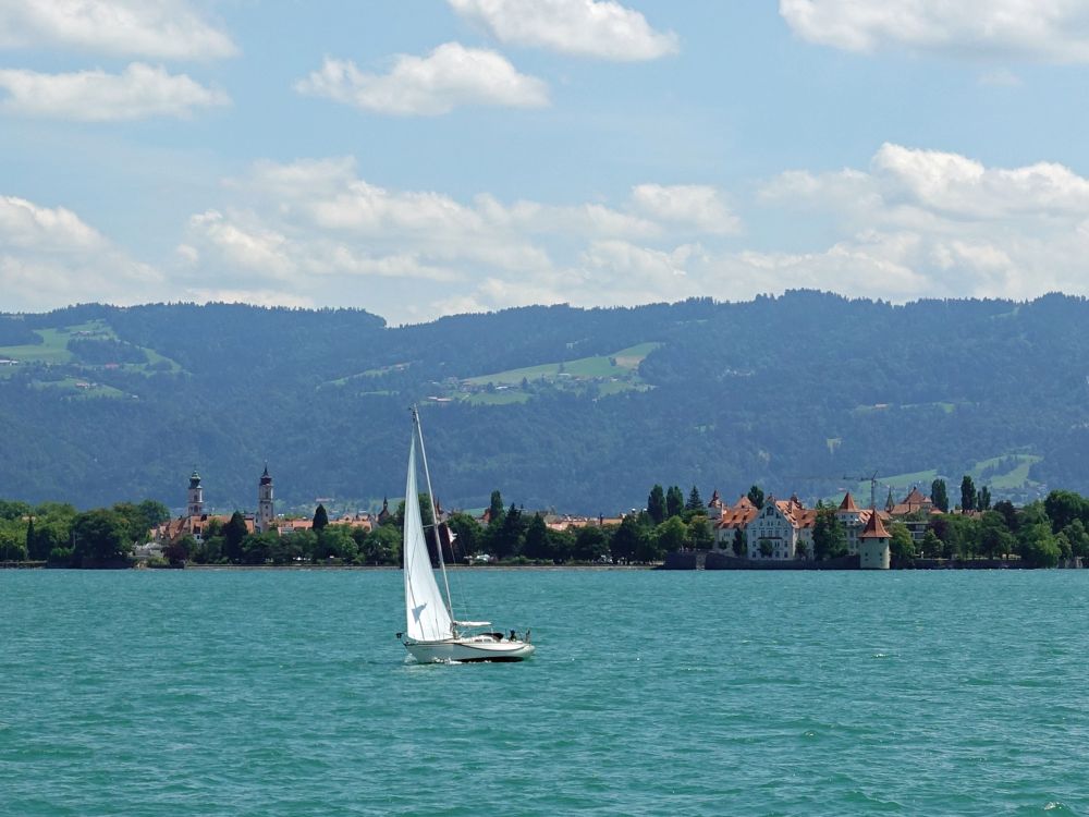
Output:
M0 312L1089 294L1089 0L0 0Z

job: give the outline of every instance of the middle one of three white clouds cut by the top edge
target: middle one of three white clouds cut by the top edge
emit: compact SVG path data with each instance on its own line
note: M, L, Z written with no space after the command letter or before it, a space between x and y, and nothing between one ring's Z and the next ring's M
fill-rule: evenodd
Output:
M678 50L677 36L612 0L448 0L498 40L607 60L653 60Z

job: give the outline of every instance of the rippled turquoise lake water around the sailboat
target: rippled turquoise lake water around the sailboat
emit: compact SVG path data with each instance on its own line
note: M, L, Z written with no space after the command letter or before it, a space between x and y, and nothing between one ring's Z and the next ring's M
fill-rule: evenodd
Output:
M0 571L0 815L1089 815L1089 571Z

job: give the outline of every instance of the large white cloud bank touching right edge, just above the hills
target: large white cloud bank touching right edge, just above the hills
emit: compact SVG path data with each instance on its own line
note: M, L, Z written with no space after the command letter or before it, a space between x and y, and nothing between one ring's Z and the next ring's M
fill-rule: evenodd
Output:
M792 171L766 184L760 200L834 222L828 249L735 259L792 285L894 301L1089 290L1089 179L1061 164L989 168L886 144L868 170Z

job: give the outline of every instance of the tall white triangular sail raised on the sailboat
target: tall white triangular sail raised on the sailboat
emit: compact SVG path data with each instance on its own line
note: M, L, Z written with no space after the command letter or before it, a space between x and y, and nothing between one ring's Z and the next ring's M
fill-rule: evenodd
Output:
M409 638L435 642L450 638L453 622L439 593L427 552L427 539L419 519L419 493L416 491L416 436L408 449L408 484L405 486L405 612Z

